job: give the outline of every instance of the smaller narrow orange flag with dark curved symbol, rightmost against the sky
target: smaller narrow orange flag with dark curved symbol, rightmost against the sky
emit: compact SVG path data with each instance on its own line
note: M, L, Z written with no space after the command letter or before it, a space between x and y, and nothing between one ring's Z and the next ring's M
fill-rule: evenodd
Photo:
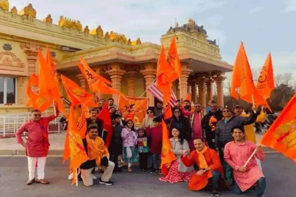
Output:
M264 98L270 98L272 90L275 88L273 78L273 68L270 52L267 55L265 64L263 65L257 83L257 90Z

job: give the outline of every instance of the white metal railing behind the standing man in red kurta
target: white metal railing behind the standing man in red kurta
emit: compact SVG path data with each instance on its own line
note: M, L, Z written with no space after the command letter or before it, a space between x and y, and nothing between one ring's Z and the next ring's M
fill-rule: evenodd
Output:
M42 112L42 116L49 116L53 115L53 110L47 110ZM56 125L58 126L57 131L49 131L49 132L60 132L60 123L59 120L63 117L64 114L60 113L59 116L50 122L49 125ZM15 133L20 126L22 126L25 122L31 119L31 113L15 113L9 115L1 115L0 116L0 135L8 135Z

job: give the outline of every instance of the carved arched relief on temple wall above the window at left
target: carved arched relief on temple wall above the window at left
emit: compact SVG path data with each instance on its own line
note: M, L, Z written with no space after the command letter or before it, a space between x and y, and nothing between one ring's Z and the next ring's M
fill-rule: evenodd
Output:
M25 64L16 58L14 53L0 52L0 68L5 70L22 71ZM21 69L20 69L21 68Z

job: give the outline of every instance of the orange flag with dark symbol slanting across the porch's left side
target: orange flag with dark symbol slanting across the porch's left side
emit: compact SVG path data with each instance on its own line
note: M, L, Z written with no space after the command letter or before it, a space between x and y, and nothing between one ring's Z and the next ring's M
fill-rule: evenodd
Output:
M99 74L95 73L86 63L86 61L80 56L80 63L76 63L79 69L81 70L82 74L87 80L89 85L89 89L92 92L97 92L105 95L122 95L120 91L117 91L107 84L111 84L110 81L105 79L104 77L100 76Z

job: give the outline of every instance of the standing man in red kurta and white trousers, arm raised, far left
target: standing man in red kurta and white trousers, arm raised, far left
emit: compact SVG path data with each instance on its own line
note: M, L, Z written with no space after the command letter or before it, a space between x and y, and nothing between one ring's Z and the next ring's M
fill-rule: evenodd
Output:
M56 107L57 109L57 107ZM44 179L44 167L46 157L49 149L48 141L48 124L54 120L57 115L49 117L42 117L41 112L37 109L32 111L32 119L22 125L15 133L16 141L22 144L26 149L26 155L28 157L29 168L29 180L27 185L31 185L35 181L35 168L37 165L37 183L48 184L49 182ZM27 131L27 141L22 139L22 133Z

